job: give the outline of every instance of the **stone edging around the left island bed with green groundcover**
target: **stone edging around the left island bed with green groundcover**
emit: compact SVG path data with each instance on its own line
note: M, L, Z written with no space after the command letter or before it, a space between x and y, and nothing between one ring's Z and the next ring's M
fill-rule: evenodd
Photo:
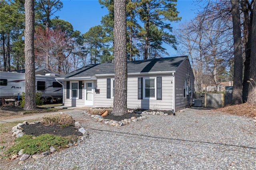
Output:
M28 123L27 121L23 122L23 123L18 123L18 125L12 127L12 136L15 136L16 138L21 137L24 135L24 132L22 132L22 125L33 125L36 123L40 123L40 121L36 121L36 122L32 122L32 123ZM75 127L78 129L78 132L81 132L83 134L83 136L81 136L77 142L74 143L68 143L67 147L73 146L73 145L78 145L80 142L82 142L83 140L85 140L86 138L88 138L89 134L88 132L86 132L86 130L80 125L79 122L75 122ZM12 159L18 158L20 157L20 162L18 162L18 164L22 164L24 162L24 160L28 159L28 158L34 158L34 159L38 159L38 158L43 158L44 156L50 155L52 153L54 153L56 151L56 149L53 146L50 146L49 150L46 152L42 152L40 154L34 154L34 155L29 155L26 153L23 153L24 149L21 149L18 152L18 155L13 155Z

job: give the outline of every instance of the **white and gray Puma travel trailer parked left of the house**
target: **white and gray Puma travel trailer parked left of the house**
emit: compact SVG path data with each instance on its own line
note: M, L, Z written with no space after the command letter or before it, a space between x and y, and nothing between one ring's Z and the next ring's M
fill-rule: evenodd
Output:
M43 102L62 100L63 88L58 83L54 73L36 75L36 92L42 93ZM19 101L22 92L25 93L25 73L0 71L1 101Z

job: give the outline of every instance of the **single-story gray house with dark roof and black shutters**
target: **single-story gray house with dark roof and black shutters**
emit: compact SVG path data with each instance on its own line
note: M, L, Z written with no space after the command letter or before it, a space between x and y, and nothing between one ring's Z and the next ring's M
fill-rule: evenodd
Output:
M194 74L188 56L128 61L127 107L177 111L190 103ZM65 107L112 107L114 63L91 64L66 75Z

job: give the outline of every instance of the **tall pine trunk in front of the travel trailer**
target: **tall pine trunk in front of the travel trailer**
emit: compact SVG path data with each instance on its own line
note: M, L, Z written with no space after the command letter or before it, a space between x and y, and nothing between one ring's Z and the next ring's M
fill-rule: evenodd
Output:
M25 0L25 105L24 110L36 109L35 88L35 55L34 55L34 32L35 13L34 0Z

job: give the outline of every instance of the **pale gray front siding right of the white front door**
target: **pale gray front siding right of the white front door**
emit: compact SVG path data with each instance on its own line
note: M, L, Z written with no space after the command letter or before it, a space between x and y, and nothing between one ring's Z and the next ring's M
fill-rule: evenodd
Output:
M129 109L162 109L172 110L172 81L173 77L170 75L150 75L140 77L162 77L162 100L153 99L138 99L138 76L128 76L127 79L127 107ZM106 83L107 78L114 77L98 77L97 85L100 89L99 94L95 94L95 107L112 107L113 99L107 99Z

